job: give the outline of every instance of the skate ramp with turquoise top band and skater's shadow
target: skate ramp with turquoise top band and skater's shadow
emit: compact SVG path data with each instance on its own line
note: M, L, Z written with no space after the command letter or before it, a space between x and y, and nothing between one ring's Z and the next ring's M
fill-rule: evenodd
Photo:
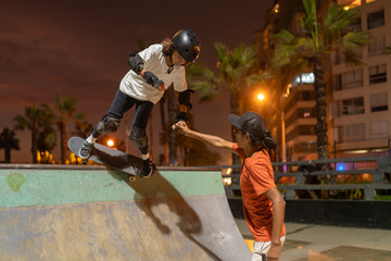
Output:
M54 169L56 167L56 169ZM250 260L219 171L0 165L0 260Z

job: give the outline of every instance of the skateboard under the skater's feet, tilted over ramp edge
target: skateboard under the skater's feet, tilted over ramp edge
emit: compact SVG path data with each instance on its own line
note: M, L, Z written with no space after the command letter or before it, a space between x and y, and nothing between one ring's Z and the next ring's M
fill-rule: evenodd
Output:
M77 157L84 141L85 139L80 137L72 137L68 140L71 151ZM109 148L104 145L93 144L91 156L88 160L106 165L116 171L125 172L129 174L129 181L135 181L137 176L141 177L142 160L140 158ZM155 172L156 166L152 165L152 167L153 172Z

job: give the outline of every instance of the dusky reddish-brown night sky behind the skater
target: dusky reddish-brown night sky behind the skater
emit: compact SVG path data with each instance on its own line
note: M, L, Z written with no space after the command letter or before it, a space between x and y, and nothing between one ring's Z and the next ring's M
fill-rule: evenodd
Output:
M263 28L272 4L273 0L1 1L0 132L12 128L12 119L24 114L26 105L48 103L53 108L55 94L77 98L77 111L87 113L94 125L129 70L127 52L138 50L138 40L155 44L181 28L192 29L201 40L199 62L216 71L213 44L229 48L253 44L254 32ZM230 138L227 94L209 103L199 103L195 95L192 102L198 130ZM116 137L125 139L133 115L134 109L125 115ZM157 142L160 126L156 105L155 159L163 153ZM30 163L30 133L16 134L21 151L12 151L12 163ZM56 161L59 148L54 149ZM131 152L138 153L138 149ZM219 163L229 163L229 153L218 152L223 157ZM0 161L3 157L1 150Z

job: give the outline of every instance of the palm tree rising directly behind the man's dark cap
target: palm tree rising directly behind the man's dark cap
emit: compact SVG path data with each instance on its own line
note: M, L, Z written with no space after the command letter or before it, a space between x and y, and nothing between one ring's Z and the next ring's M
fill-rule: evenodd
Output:
M230 112L240 114L244 88L260 80L260 75L253 72L256 54L255 48L253 46L239 45L234 50L229 50L225 45L218 42L214 47L218 54L218 83L223 83L229 90ZM234 126L231 130L234 130ZM235 141L234 132L231 132L231 138ZM232 153L232 163L240 163L240 158L235 153Z

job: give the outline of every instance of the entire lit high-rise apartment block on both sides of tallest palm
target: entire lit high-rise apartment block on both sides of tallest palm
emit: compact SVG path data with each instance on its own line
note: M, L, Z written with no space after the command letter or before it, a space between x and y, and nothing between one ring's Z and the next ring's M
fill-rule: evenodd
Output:
M319 12L337 2L346 9L358 7L352 29L368 32L371 41L358 52L363 65L343 63L340 54L330 55L327 75L328 137L330 158L388 154L391 137L391 0L318 1ZM321 3L321 5L319 5ZM268 13L264 30L255 34L260 67L267 69L273 50L272 37L280 28L300 29L301 1L278 1ZM294 12L292 11L294 10ZM286 159L317 158L314 75L303 72L282 91Z

